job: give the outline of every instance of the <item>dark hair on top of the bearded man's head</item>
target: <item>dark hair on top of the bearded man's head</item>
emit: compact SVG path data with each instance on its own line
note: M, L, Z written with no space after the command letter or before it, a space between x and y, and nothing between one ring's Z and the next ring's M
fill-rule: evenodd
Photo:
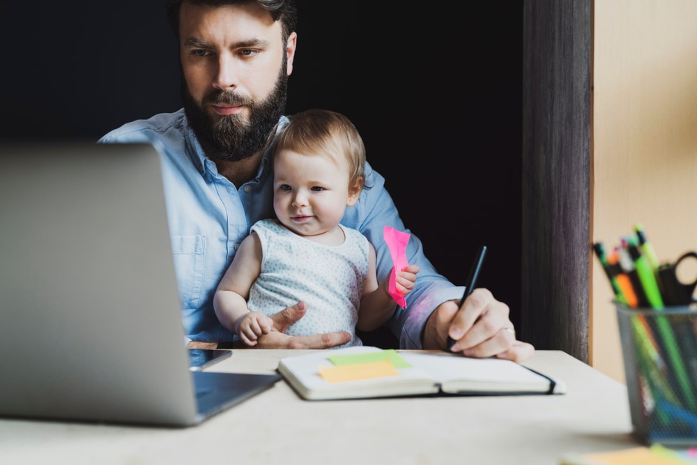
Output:
M179 38L179 10L181 9L182 3L208 6L256 3L261 6L261 8L268 11L274 21L281 22L284 41L298 26L298 8L296 8L296 0L165 0L164 11L167 13L167 20L169 20L169 25L172 31L174 31L174 36L176 36L176 38Z

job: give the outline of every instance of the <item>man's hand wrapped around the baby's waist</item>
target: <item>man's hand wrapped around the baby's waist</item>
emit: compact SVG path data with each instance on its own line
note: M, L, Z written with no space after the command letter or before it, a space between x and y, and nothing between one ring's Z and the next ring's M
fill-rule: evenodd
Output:
M316 334L312 336L289 336L284 331L301 319L307 312L305 302L286 307L273 315L273 328L268 334L261 335L256 344L258 349L329 349L346 344L351 335L344 331Z

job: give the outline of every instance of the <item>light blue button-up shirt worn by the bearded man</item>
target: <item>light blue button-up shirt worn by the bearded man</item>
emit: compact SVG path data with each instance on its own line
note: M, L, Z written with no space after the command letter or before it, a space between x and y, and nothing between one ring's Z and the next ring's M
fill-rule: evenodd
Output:
M287 121L282 116L279 127ZM269 152L264 154L254 179L235 186L204 155L183 109L126 123L98 142L150 142L158 149L187 341L233 340L233 333L215 316L213 294L252 224L275 216ZM383 228L388 225L399 231L410 231L404 227L385 190L384 178L369 164L366 164L366 181L372 188L364 189L358 203L347 208L342 224L358 229L374 245L378 280L383 280L392 268ZM436 273L424 256L421 242L413 235L406 254L408 262L418 264L421 270L415 290L406 297L406 309L398 308L389 325L399 337L401 349L421 349L426 319L445 300L461 298L463 288L455 287Z

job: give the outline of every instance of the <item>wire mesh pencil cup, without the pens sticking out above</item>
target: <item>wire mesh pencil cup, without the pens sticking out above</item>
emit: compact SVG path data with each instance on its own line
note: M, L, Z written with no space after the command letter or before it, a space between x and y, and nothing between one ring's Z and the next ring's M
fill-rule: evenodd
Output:
M697 310L615 307L634 434L697 445Z

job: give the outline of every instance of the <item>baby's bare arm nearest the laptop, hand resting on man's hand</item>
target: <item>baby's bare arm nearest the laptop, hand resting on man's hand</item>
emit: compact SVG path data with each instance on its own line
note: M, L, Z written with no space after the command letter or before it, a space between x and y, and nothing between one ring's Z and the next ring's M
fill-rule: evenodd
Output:
M273 323L266 315L250 312L247 307L252 284L261 273L261 254L259 238L252 232L240 244L213 296L213 308L222 326L250 346L268 333Z

